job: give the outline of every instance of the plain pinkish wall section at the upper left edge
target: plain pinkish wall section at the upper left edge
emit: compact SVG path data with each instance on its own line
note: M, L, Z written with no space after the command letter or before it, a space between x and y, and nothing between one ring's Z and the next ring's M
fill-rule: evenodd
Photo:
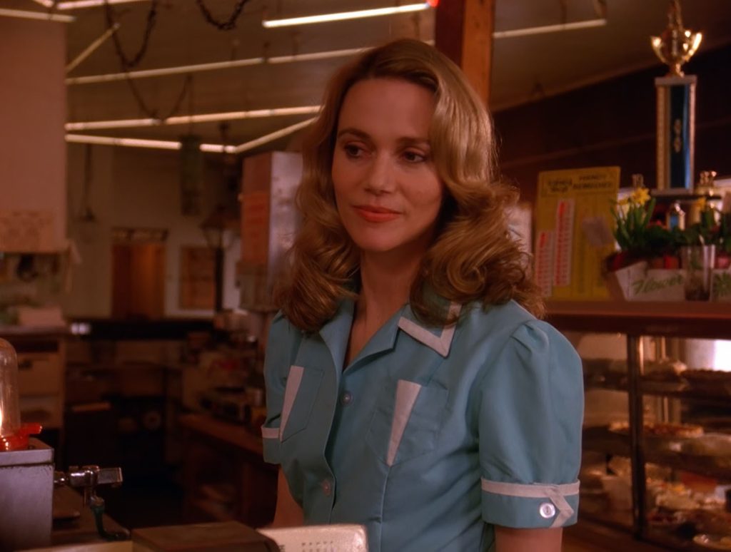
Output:
M53 213L66 237L66 24L0 17L0 210Z

